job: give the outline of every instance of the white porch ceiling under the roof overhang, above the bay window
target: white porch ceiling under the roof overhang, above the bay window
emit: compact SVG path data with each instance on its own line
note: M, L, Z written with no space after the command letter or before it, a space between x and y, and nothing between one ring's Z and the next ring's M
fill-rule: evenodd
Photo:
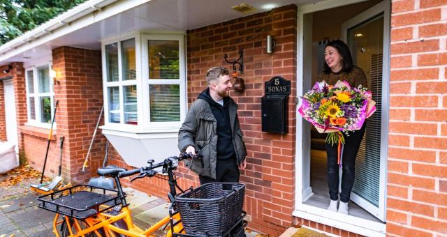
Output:
M8 61L34 61L42 55L50 55L52 49L64 45L101 49L101 39L131 31L184 31L226 22L246 16L231 9L240 3L249 3L258 9L256 13L261 13L292 3L302 6L318 1L321 0L152 0L17 54Z

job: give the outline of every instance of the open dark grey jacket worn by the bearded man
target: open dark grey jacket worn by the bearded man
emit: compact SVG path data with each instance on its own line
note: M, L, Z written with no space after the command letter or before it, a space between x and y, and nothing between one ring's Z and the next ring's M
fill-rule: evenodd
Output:
M228 101L228 114L233 135L233 147L237 165L239 165L245 160L247 150L237 118L237 105L231 98ZM186 166L196 174L216 178L217 121L208 102L200 98L194 101L189 108L182 128L179 130L179 150L184 152L188 146L194 146L196 153L201 152L202 158L187 160Z

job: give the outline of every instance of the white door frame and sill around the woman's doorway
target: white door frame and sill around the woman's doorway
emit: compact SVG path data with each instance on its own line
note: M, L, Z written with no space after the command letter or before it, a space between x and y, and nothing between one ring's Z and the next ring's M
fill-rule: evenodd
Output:
M305 33L309 28L305 29L303 20L305 14L313 13L319 10L326 10L329 8L336 8L339 6L345 6L352 3L359 3L365 0L327 0L318 3L311 3L305 6L298 7L298 25L297 25L297 101L300 101L300 96L302 96L305 91L303 89L307 84L311 82L305 82L305 75L303 73L303 68L305 68L306 61L304 59L309 59L309 55L305 55L305 37L309 36L309 33ZM390 0L384 0L386 2L385 15L388 15L390 19ZM386 68L389 70L389 68ZM307 83L305 85L305 83ZM306 185L305 182L310 181L310 169L304 170L303 167L310 165L310 146L306 146L307 141L305 139L306 126L309 126L306 121L300 119L298 114L298 107L300 107L300 102L297 103L296 111L296 142L295 142L295 211L292 215L296 217L302 217L306 220L311 220L321 224L328 225L330 227L336 227L339 229L344 229L346 231L351 231L357 234L362 234L365 236L386 236L386 224L380 222L373 222L371 220L365 220L359 217L354 217L352 215L343 215L340 213L335 213L333 211L328 211L323 208L318 208L315 206L310 206L304 204L304 201L312 196L312 188L308 187L303 189ZM310 135L309 135L310 137ZM307 157L306 157L307 156ZM308 162L306 162L308 160ZM308 167L309 168L309 167Z

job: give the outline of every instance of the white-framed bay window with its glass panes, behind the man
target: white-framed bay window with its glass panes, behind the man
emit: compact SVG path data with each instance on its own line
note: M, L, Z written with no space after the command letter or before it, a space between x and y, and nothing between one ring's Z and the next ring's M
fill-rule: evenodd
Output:
M103 41L106 129L178 131L186 114L184 36L133 34Z

